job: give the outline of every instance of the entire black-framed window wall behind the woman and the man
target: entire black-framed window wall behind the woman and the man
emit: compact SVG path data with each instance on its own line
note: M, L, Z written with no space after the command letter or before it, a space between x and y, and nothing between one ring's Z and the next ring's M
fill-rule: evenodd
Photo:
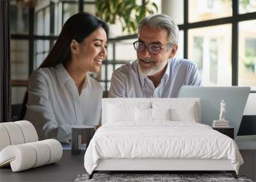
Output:
M175 12L172 18L180 29L175 57L198 65L203 86L250 86L256 91L256 0L152 1L158 13ZM79 11L95 13L94 0L44 0L31 7L21 2L10 0L13 105L22 103L29 74L44 61L65 21ZM116 26L110 28L115 32ZM109 39L107 60L93 75L105 96L113 71L136 59L132 42L137 36L124 33L119 29Z

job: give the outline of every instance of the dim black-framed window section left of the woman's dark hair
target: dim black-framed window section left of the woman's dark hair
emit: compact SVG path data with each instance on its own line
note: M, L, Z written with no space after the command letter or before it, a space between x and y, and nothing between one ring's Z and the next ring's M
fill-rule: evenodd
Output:
M12 118L19 117L29 74L51 50L64 22L74 13L93 9L94 1L44 0L32 6L10 0ZM93 11L90 11L93 13Z

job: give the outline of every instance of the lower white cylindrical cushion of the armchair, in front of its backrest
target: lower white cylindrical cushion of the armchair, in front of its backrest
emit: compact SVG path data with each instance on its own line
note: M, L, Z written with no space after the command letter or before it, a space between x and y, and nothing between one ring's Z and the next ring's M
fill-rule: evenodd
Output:
M0 167L11 165L13 172L56 162L61 159L62 146L58 140L12 145L0 152Z

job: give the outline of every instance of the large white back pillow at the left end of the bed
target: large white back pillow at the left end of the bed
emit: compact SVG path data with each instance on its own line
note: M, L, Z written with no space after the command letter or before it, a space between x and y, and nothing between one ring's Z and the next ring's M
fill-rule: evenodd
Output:
M109 104L107 122L118 121L135 121L135 108Z

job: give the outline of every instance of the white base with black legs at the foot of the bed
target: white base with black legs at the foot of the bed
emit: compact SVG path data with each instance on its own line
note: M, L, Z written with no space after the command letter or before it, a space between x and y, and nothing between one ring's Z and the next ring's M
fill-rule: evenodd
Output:
M170 165L171 164L171 165ZM231 165L230 160L211 160L211 159L124 159L124 158L109 158L99 160L95 170L90 174L89 179L92 179L93 174L100 171L118 171L118 172L150 172L150 173L168 173L182 171L186 173L193 172L214 172L226 171L231 173L237 179L236 171Z

